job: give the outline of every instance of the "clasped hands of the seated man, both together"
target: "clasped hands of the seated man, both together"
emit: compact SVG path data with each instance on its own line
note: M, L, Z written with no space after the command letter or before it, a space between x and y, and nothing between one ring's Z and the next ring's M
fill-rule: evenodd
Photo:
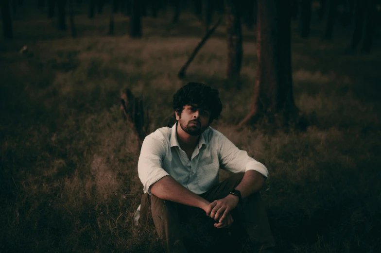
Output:
M207 216L217 221L214 224L216 228L230 227L233 223L230 211L233 210L239 202L237 196L227 195L225 198L211 202L206 208Z

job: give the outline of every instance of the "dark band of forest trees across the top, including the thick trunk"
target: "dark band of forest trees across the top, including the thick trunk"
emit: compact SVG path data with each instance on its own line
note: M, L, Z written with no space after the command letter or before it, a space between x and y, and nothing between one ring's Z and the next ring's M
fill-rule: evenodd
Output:
M0 0L3 36L12 39L12 13L23 0ZM87 6L88 18L103 14L104 6L111 5L109 33L114 34L114 14L122 13L130 17L129 34L139 38L142 34L142 17L167 16L171 8L173 23L178 23L185 9L194 13L205 28L206 35L181 68L178 76L183 78L186 68L197 51L205 44L225 17L227 63L226 80L240 84L242 67L242 24L248 30L257 29L256 44L258 64L254 94L247 117L239 126L256 118L274 118L281 115L284 120L297 118L298 109L294 104L291 67L291 20L297 20L299 35L308 38L311 34L312 6L317 10L317 18L323 25L321 38L332 38L338 20L341 25L353 23L354 31L346 53L354 53L362 41L362 52L369 52L376 25L380 24L381 0L35 0L36 7L47 8L48 18L57 15L58 29L66 30L66 13L69 9L71 35L77 36L74 25L74 3ZM213 15L219 21L210 29ZM171 21L170 21L171 22ZM127 29L126 29L127 30Z

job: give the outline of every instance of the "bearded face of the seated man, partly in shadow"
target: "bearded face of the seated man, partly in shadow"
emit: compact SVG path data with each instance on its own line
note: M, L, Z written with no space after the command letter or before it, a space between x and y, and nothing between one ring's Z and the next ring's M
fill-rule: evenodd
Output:
M179 115L176 112L176 120L180 127L189 135L201 135L209 126L210 111L198 108L196 104L185 105Z

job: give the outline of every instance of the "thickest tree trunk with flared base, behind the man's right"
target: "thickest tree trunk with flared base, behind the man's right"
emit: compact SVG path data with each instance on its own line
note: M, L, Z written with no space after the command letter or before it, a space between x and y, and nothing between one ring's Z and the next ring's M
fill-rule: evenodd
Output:
M297 110L291 69L291 4L286 0L258 0L256 81L249 114L239 127L259 115L282 113L284 120Z

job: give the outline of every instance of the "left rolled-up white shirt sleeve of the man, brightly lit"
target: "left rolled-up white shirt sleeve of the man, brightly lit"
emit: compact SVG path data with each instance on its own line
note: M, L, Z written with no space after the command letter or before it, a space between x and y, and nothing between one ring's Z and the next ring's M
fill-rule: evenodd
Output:
M151 136L145 137L138 161L138 174L144 193L148 192L151 195L150 186L169 175L162 168L165 153L166 149L162 141Z

